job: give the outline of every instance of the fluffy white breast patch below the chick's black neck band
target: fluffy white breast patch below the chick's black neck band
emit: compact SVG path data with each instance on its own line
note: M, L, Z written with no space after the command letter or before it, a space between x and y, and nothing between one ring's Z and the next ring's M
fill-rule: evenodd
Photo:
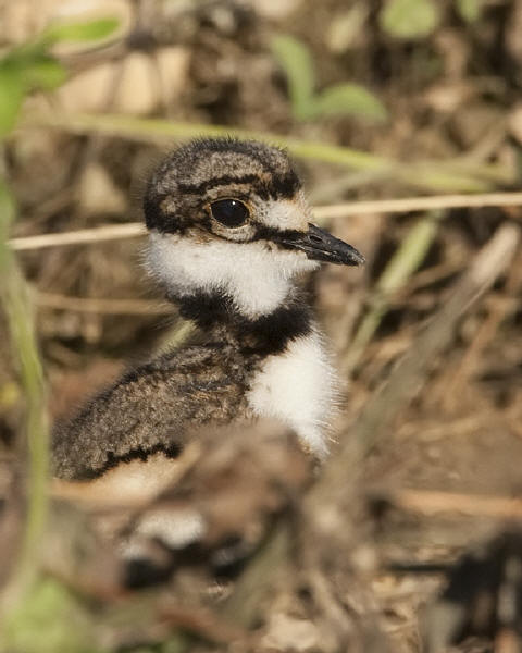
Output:
M253 412L290 426L313 454L324 458L338 381L314 331L266 358L248 393Z

